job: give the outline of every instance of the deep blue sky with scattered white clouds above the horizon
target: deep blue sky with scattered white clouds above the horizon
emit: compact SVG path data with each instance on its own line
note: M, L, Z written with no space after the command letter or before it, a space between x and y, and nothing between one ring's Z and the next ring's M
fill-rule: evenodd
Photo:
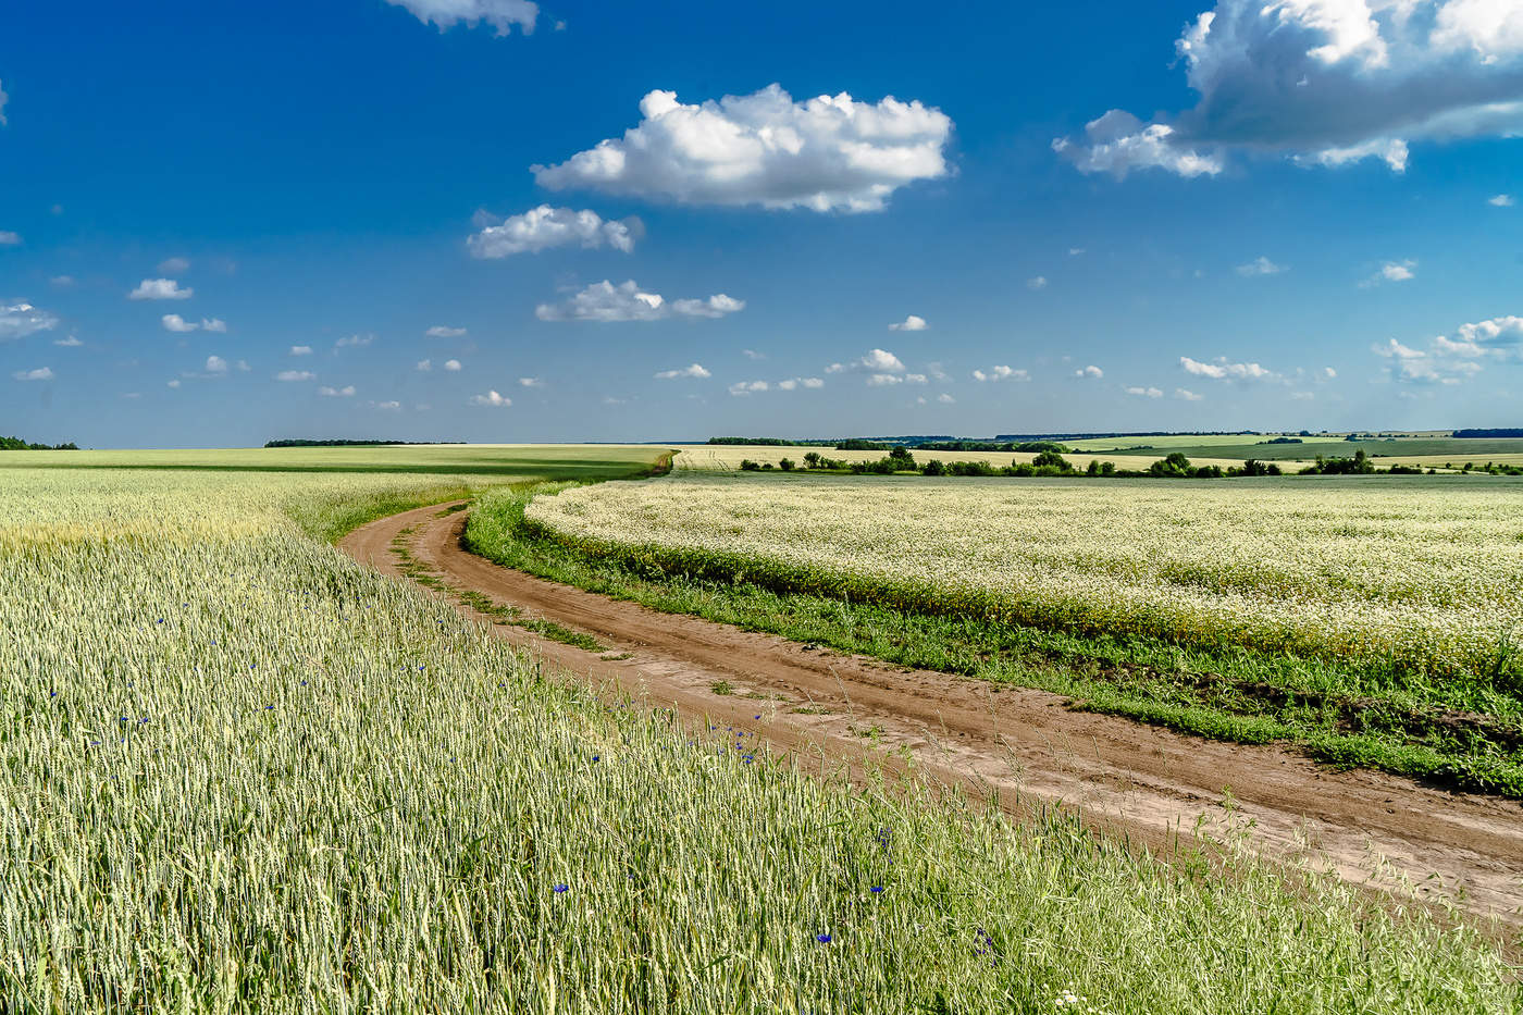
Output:
M8 11L0 431L1520 422L1523 3L612 6Z

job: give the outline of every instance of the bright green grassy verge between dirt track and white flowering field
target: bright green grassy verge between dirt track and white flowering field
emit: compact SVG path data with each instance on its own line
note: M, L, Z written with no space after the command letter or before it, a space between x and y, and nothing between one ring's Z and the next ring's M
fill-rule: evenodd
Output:
M1301 747L1368 767L1523 799L1523 718L1488 687L1422 681L1328 660L1075 636L780 593L667 570L649 555L589 555L524 521L547 485L486 494L468 546L489 559L591 591L886 661L1040 687L1075 707L1244 744Z

